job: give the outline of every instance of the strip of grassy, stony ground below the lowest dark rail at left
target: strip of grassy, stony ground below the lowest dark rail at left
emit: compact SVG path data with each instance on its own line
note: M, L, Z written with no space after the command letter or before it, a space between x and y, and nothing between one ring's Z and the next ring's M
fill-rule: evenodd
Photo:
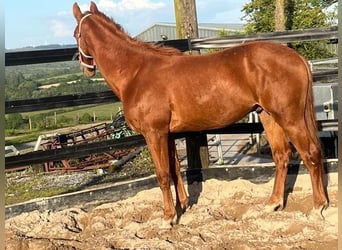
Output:
M103 178L99 178L96 182L89 181L90 179L88 179L85 182L87 184L80 184L79 182L78 184L66 185L60 183L58 178L48 178L53 176L58 177L58 172L47 175L41 171L42 167L37 164L23 172L6 174L5 204L11 205L36 198L80 191L101 184L113 183L118 180L122 181L151 175L154 173L154 165L148 149L144 148L135 159L127 162L124 166L119 168L110 167L107 174L103 175Z

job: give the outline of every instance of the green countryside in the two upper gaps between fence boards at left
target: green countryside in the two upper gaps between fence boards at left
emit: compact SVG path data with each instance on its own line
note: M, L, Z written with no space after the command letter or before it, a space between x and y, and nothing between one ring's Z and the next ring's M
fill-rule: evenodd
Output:
M78 62L56 62L19 65L5 69L5 100L37 99L51 96L74 95L108 91L109 87L99 72L85 77ZM66 107L6 116L6 136L33 134L38 131L75 126L79 123L109 121L120 103ZM33 136L33 138L36 135ZM31 138L32 139L32 138ZM36 138L35 138L36 139ZM26 141L26 139L23 139Z

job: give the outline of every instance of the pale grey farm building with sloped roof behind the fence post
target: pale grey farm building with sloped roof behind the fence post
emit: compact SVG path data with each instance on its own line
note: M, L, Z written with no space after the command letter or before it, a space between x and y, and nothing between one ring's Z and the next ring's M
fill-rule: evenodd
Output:
M199 38L217 37L222 31L228 34L239 33L243 30L243 23L201 23L198 24ZM176 37L175 23L156 23L135 36L138 40L156 42L160 40L174 40Z

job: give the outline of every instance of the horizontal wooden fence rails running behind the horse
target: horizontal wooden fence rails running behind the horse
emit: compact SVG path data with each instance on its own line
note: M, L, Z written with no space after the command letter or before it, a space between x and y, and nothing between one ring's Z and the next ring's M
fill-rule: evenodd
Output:
M337 42L337 27L331 27L326 29L310 29L303 31L287 31L276 32L271 34L259 34L254 36L228 36L223 38L207 38L207 39L195 39L190 41L173 40L158 42L160 45L172 46L186 51L189 49L201 49L201 48L223 48L230 47L246 41L253 40L273 40L278 42L290 42L290 41L312 41L312 40L329 40L331 42ZM191 48L189 48L189 44ZM35 63L48 63L58 61L69 61L73 58L77 52L77 48L63 48L54 50L38 50L38 51L21 51L21 52L7 52L5 55L5 65L24 65ZM336 78L337 69L320 72L314 74L315 80ZM119 101L117 97L111 91L102 93L90 93L84 95L68 95L57 96L51 98L40 98L34 100L17 100L6 101L5 113L16 112L28 112L37 110L46 110L52 108L79 106L86 104L105 103ZM337 121L320 121L319 127L322 131L337 130ZM176 138L186 137L187 139L196 138L195 141L201 141L208 133L220 134L220 133L261 133L263 127L260 123L237 123L226 128L203 131L201 133L180 133L176 134ZM113 149L122 149L132 146L144 145L145 141L142 136L133 136L129 138L123 138L119 140L109 140L103 142L97 142L87 145L76 145L67 148L56 149L53 151L44 152L32 152L25 155L6 157L6 169L30 165L35 163L43 163L47 160L63 160L72 157L81 157L93 153L103 153ZM201 147L207 147L207 145L196 144L192 145L192 150L188 150L188 164L190 168L203 166L201 157L199 155ZM189 147L190 148L190 147Z

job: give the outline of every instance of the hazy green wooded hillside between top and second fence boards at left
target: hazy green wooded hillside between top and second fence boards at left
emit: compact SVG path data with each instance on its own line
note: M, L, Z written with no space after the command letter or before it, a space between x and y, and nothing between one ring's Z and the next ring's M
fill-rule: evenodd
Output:
M74 62L6 67L5 100L36 99L109 90L101 75L83 76ZM30 67L28 67L30 66Z

